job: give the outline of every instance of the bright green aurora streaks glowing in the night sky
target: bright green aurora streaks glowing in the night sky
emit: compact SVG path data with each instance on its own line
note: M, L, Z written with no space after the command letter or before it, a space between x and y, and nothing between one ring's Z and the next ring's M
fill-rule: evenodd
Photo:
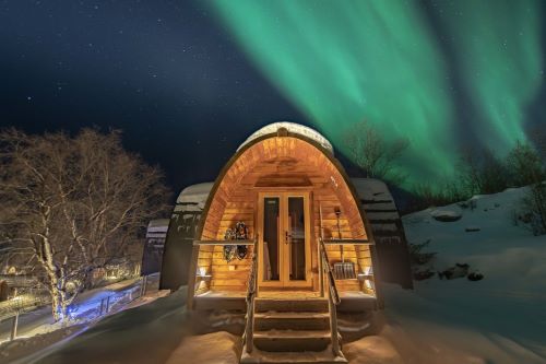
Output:
M451 62L418 2L210 4L268 80L342 152L344 132L361 120L390 139L408 138L400 165L408 184L451 176L465 134L500 154L525 138L525 107L544 79L537 1L446 2L435 14L452 37ZM455 71L472 99L464 122Z

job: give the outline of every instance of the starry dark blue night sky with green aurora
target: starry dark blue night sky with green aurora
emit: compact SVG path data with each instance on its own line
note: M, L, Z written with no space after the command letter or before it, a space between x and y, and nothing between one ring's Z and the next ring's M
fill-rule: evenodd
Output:
M178 190L277 120L367 119L410 183L546 128L541 1L0 1L0 126L122 129Z

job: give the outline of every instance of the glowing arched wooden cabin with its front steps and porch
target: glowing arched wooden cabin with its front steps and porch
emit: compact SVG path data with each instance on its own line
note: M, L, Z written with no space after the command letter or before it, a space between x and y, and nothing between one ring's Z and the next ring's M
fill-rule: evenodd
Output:
M232 234L238 223L246 232ZM285 362L295 352L343 362L337 310L382 307L360 200L332 145L310 128L276 122L252 134L195 226L188 308L246 310L241 362Z

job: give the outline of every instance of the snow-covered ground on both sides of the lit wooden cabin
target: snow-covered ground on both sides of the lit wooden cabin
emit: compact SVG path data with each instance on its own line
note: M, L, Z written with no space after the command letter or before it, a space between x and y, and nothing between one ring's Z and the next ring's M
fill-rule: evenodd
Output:
M346 343L352 364L546 363L546 236L512 224L523 189L477 197L473 211L439 222L429 209L404 216L411 243L430 239L435 270L468 263L485 279L417 282L414 291L383 285L384 325ZM466 227L479 227L466 232ZM195 332L183 307L186 287L104 319L54 348L37 363L237 363L240 336ZM200 334L197 334L200 333Z

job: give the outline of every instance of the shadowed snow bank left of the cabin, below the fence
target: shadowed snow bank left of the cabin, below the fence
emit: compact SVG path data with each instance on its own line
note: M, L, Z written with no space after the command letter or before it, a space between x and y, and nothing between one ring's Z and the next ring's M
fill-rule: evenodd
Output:
M149 305L105 318L32 363L165 363L191 331L183 306L186 294L186 287L181 287Z

